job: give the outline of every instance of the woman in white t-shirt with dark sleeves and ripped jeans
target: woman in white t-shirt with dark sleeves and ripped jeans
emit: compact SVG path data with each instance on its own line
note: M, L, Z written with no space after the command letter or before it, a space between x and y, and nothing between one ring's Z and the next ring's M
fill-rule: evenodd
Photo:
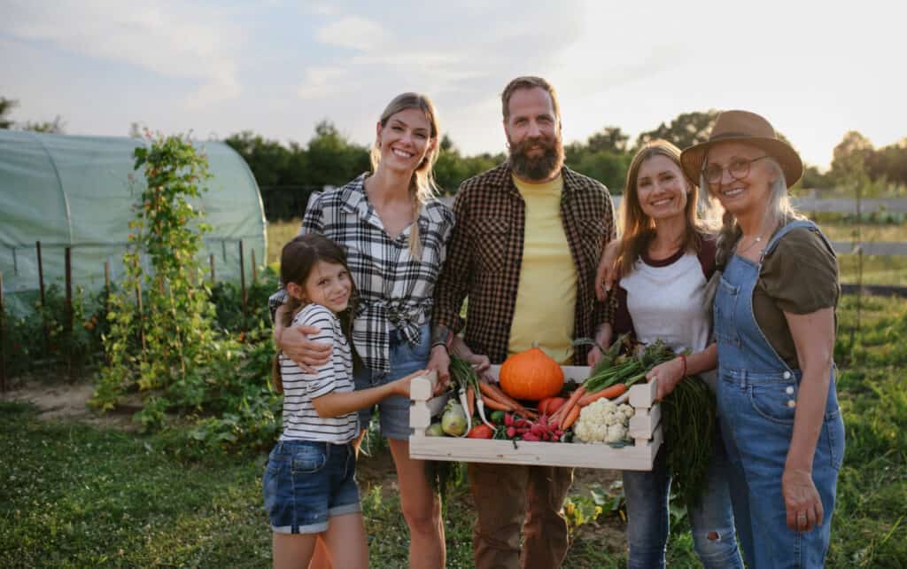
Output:
M666 141L646 144L630 162L624 189L623 232L617 246L618 309L598 334L600 345L612 335L631 332L642 343L660 338L678 357L658 366L658 399L688 375L700 374L711 388L717 349L710 339L706 289L715 268L715 243L697 216L698 189L680 166L679 149ZM613 251L612 251L613 252ZM684 355L688 353L688 355ZM600 358L590 353L590 363ZM716 429L717 430L717 429ZM694 547L707 568L739 567L727 456L713 441L707 488L688 505ZM627 500L629 568L665 566L668 543L670 475L662 446L651 471L624 471Z

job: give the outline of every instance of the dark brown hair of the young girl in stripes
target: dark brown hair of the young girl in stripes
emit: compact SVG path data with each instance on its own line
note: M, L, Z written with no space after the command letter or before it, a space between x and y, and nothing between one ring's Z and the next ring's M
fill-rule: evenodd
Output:
M324 235L307 233L293 238L280 251L280 282L285 287L291 282L300 287L305 287L308 275L319 261L333 265L343 265L346 272L350 272L349 266L346 264L346 253L342 247L327 239ZM354 303L356 301L356 283L352 282L352 277L350 278L350 284L352 289L350 289L349 304L346 310L337 315L347 338L349 338L349 332L353 324ZM299 299L287 295L285 306L287 308L284 310L283 319L280 323L286 328L293 323L293 317L305 304ZM283 393L279 356L280 352L278 351L274 356L271 380L274 382L275 390L278 393Z

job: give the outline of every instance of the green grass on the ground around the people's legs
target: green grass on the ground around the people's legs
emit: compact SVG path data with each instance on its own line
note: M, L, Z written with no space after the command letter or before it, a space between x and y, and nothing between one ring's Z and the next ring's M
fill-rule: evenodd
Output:
M852 342L854 302L845 297L839 310L847 451L826 566L905 567L907 303L863 298ZM161 437L44 420L15 402L0 402L0 428L0 566L269 566L264 456L179 458ZM372 566L396 569L406 566L407 537L386 455L377 445L362 459L360 487ZM564 566L622 567L619 490L602 501L586 483L571 492ZM684 513L672 517L668 566L699 566ZM456 488L445 516L449 567L473 566L472 520L468 492Z

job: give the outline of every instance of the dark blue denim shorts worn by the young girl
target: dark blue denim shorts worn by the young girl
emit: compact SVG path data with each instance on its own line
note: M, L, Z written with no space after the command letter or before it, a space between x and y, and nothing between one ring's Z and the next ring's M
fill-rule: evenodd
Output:
M362 511L349 443L280 441L268 456L262 486L276 534L319 534L330 516Z

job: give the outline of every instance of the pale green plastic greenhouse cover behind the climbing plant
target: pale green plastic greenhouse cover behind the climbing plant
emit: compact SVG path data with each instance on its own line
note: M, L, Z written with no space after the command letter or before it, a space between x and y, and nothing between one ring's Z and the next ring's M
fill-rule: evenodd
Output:
M44 286L63 288L64 250L71 248L73 288L122 277L133 204L144 188L132 152L144 140L63 136L0 130L0 273L5 306L24 314L38 291L35 242L41 241ZM218 280L239 280L239 241L247 282L252 250L266 259L266 221L249 166L222 142L196 142L208 156L212 178L195 205L212 231L200 257L215 255Z

